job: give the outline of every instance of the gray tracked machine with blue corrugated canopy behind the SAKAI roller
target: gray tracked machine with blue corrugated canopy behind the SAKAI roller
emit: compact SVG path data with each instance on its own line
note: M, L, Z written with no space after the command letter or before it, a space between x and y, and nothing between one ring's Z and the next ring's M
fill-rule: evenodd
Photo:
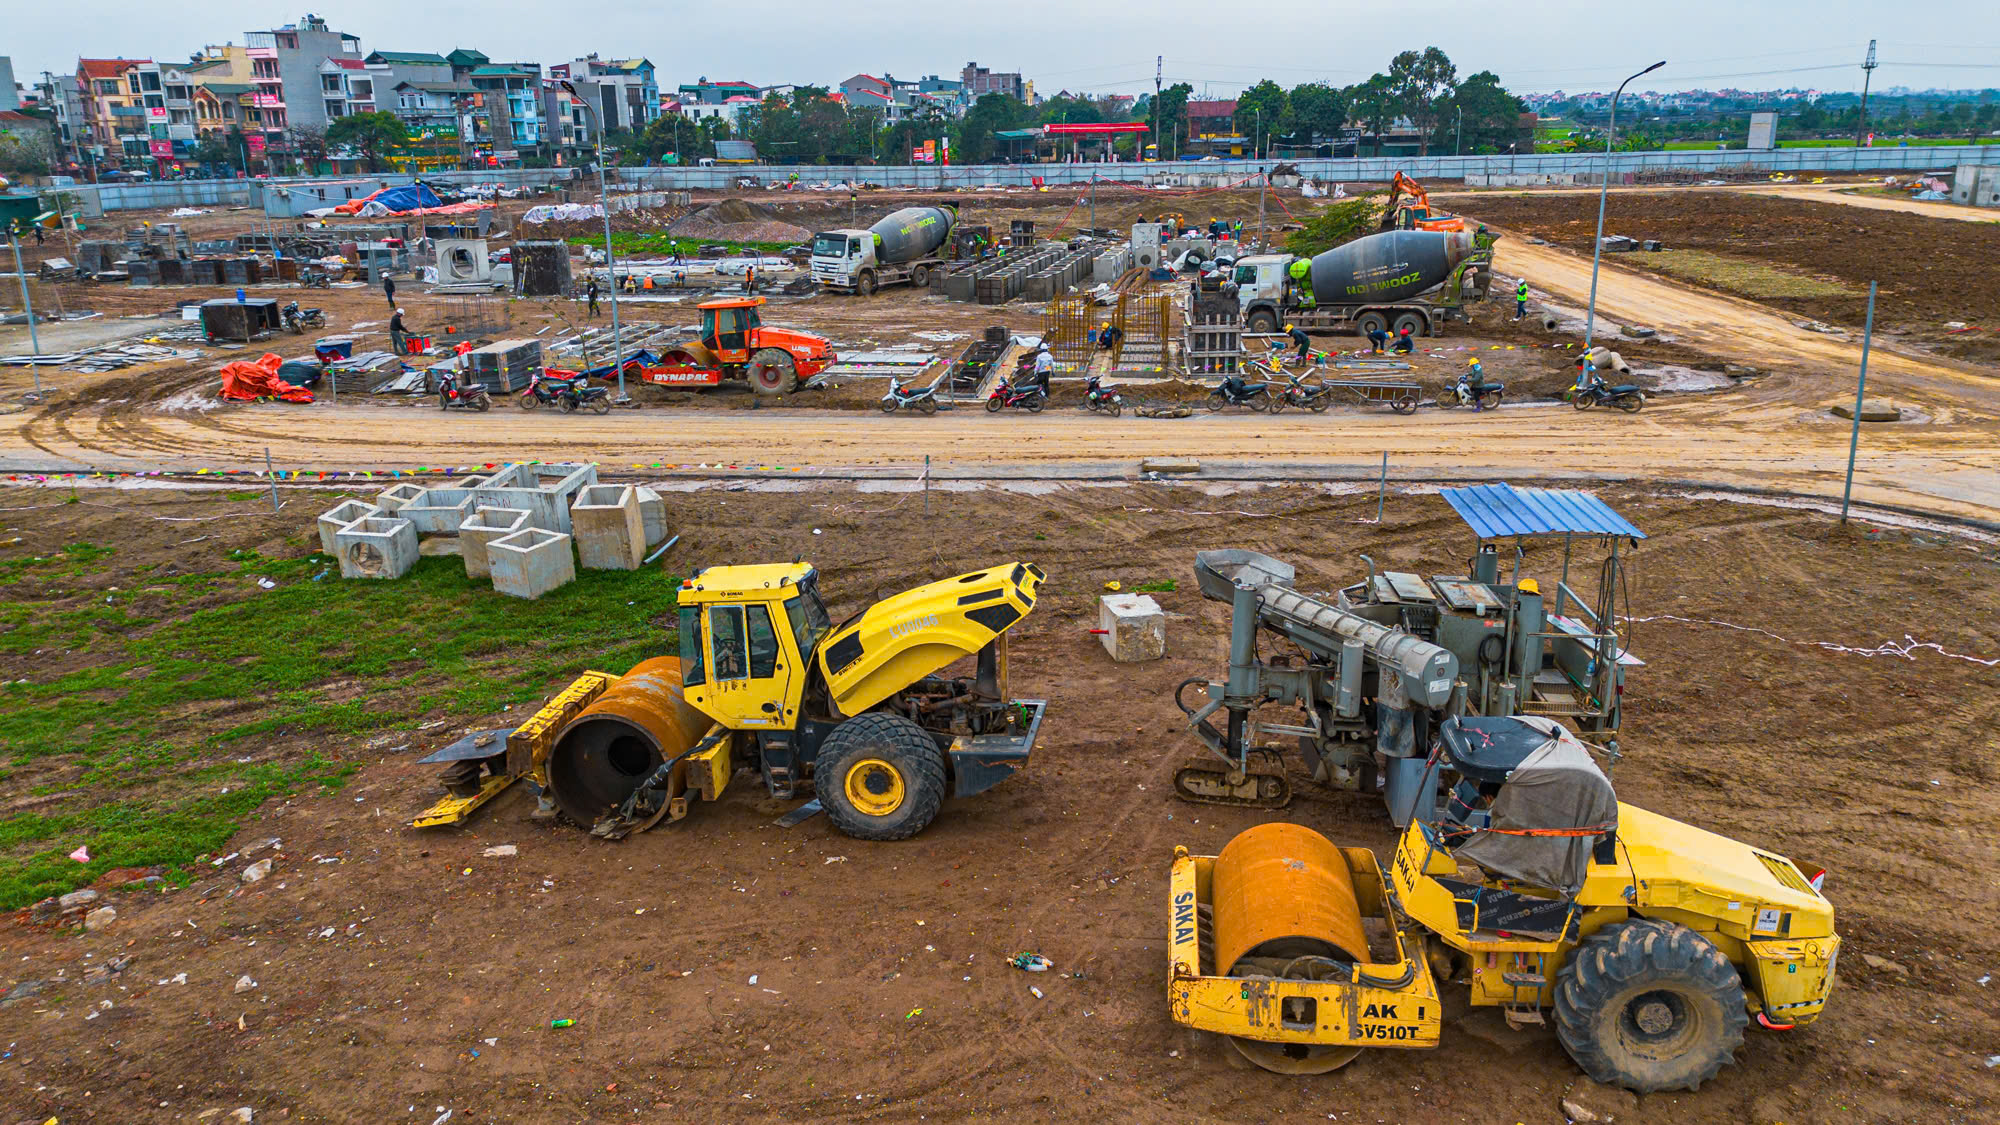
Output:
M1640 663L1618 641L1618 542L1644 532L1586 492L1482 484L1444 498L1480 538L1464 577L1370 565L1366 581L1316 597L1268 554L1196 554L1202 595L1230 607L1230 665L1226 679L1190 679L1174 693L1210 751L1176 771L1180 797L1280 809L1292 799L1284 755L1296 747L1320 783L1362 793L1380 783L1404 825L1424 755L1454 715L1560 719L1616 755L1626 669ZM1518 544L1502 581L1494 540L1550 536L1566 544L1550 595L1520 575ZM1610 544L1594 607L1568 583L1576 538ZM1262 655L1260 641L1288 649ZM1294 717L1272 721L1272 707Z

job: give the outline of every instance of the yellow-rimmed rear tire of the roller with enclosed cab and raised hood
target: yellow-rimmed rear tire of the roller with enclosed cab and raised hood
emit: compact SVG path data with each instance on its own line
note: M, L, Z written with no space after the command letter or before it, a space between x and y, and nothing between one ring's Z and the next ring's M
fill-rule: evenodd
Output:
M902 801L888 813L866 813L848 797L848 775L862 763L882 763L902 781ZM922 727L902 715L856 715L820 747L812 769L826 819L862 841L902 841L924 831L944 805L944 755Z

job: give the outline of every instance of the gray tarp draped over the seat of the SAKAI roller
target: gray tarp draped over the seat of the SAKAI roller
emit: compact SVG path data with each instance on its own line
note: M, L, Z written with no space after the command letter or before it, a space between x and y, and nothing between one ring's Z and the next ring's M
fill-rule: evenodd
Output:
M1560 723L1524 715L1522 725L1548 735L1542 749L1528 755L1492 805L1496 829L1590 829L1618 825L1618 797L1612 783L1590 759L1590 751ZM1590 869L1590 849L1598 837L1518 837L1480 831L1460 845L1470 859L1508 879L1576 895Z

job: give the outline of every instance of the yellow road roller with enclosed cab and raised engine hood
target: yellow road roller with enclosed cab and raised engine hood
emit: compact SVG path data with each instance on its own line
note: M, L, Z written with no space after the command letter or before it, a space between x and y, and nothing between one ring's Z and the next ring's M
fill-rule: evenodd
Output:
M852 837L912 837L946 797L1028 763L1046 703L1008 695L1006 633L1042 577L1004 562L836 627L808 562L710 567L680 585L678 655L584 673L518 729L424 759L454 763L454 797L416 825L458 823L530 777L554 811L618 839L754 771L776 799L816 795L784 823L824 809ZM946 675L960 661L970 675Z

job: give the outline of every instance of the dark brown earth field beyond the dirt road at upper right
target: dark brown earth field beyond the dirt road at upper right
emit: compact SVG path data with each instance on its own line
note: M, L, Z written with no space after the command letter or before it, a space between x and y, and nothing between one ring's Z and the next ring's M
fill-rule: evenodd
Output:
M1586 196L1496 194L1458 202L1486 222L1582 254L1590 252L1596 234L1596 208L1586 206ZM1604 232L1658 238L1672 250L1708 250L1838 282L1844 294L1822 296L1706 284L1854 330L1866 320L1868 282L1874 280L1878 332L1946 356L2000 360L2000 284L1994 284L2000 226L1746 192L1612 192ZM1612 260L1650 268L1644 252ZM1954 332L1946 322L1978 330Z

